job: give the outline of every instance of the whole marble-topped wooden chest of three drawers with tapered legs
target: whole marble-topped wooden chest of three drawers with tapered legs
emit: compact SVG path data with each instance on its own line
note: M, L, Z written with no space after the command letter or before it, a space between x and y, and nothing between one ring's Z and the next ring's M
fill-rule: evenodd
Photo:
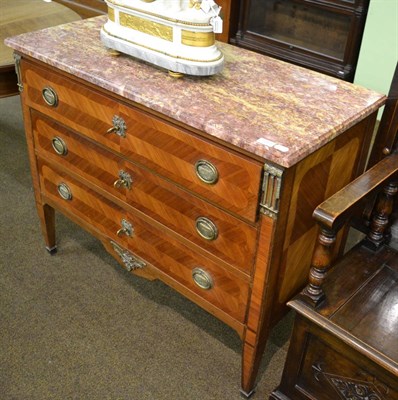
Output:
M103 22L8 39L46 246L60 211L230 325L250 395L306 281L311 213L363 170L384 96L228 45L219 76L173 80L108 54Z

